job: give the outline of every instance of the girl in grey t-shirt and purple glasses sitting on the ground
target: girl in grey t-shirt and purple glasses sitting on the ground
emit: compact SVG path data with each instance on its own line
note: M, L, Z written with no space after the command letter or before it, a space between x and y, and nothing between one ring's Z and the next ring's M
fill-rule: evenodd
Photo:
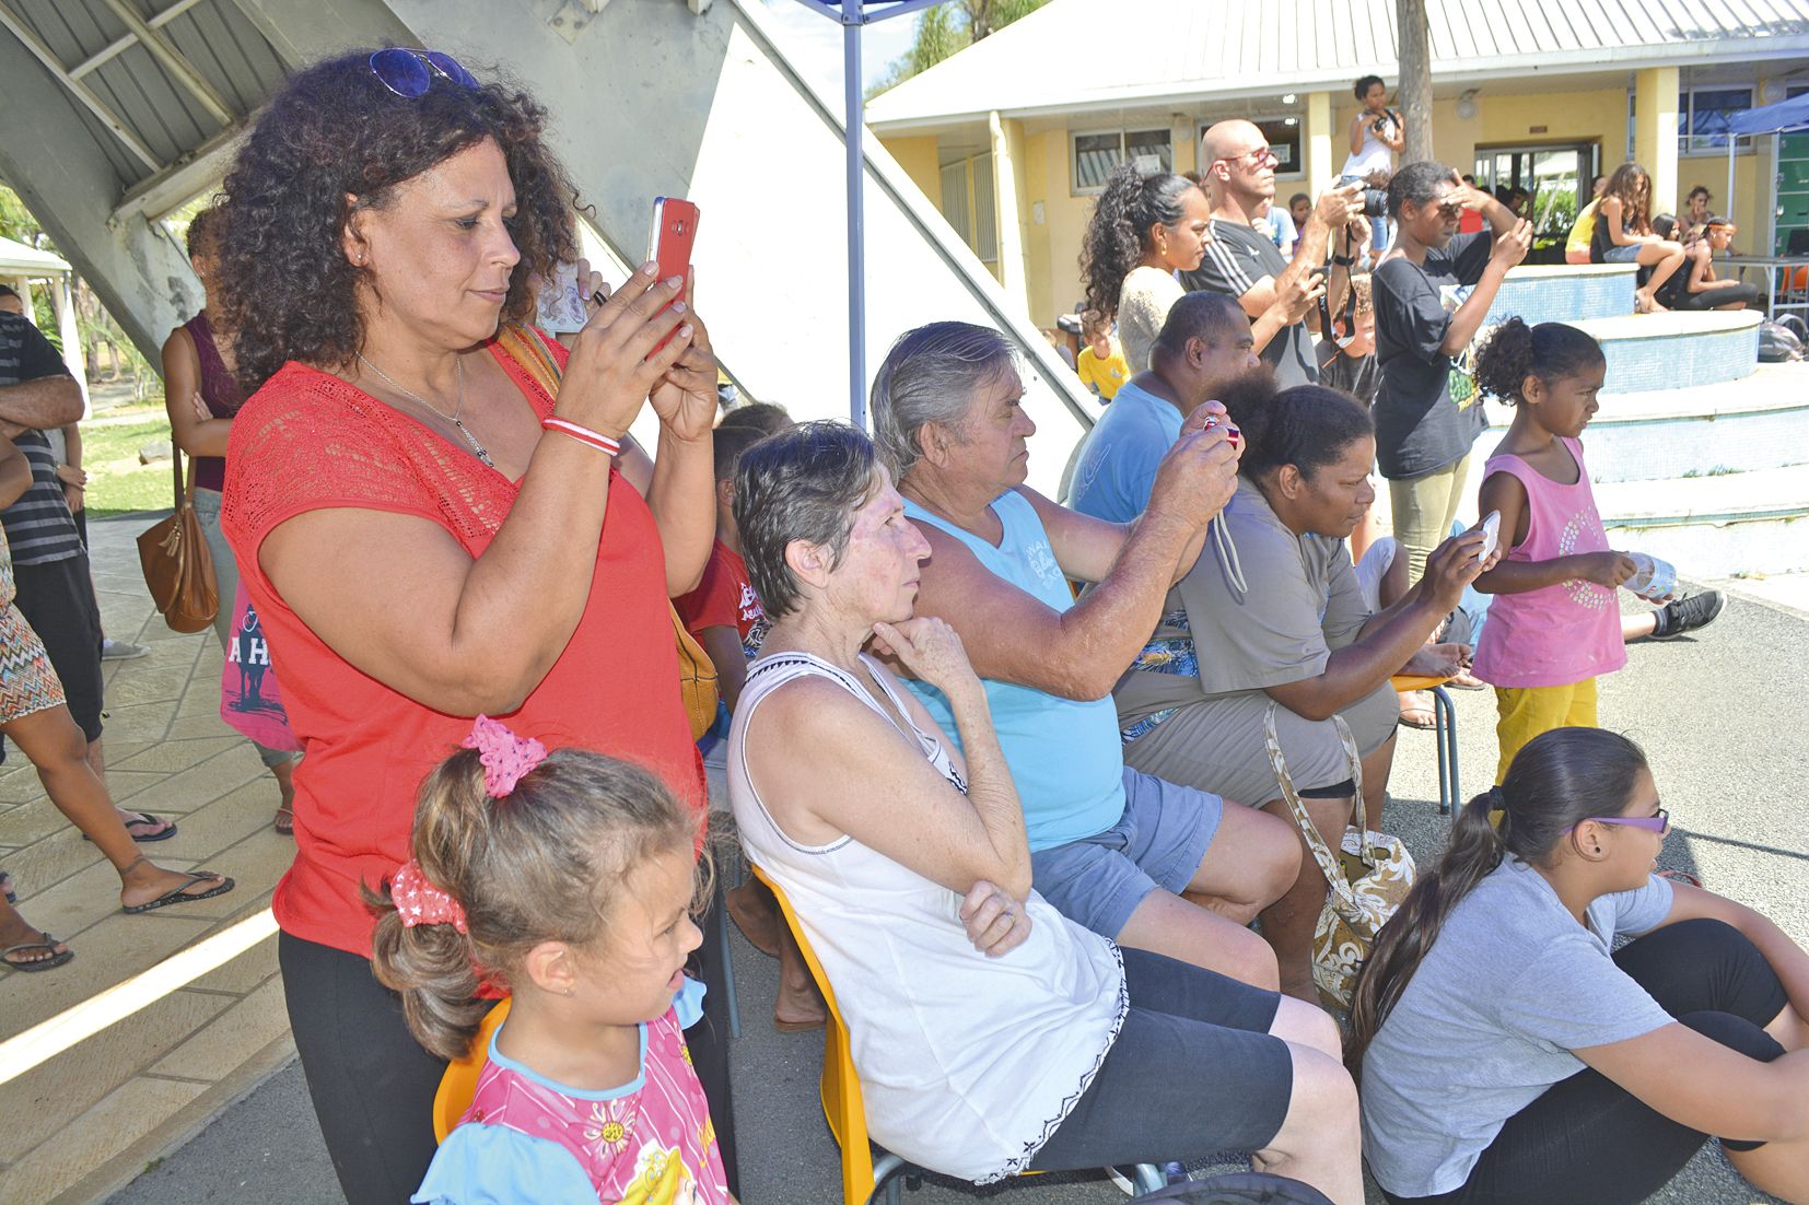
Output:
M1592 727L1538 736L1458 816L1351 1008L1389 1201L1634 1205L1708 1134L1809 1201L1809 954L1653 874L1668 829L1639 745Z

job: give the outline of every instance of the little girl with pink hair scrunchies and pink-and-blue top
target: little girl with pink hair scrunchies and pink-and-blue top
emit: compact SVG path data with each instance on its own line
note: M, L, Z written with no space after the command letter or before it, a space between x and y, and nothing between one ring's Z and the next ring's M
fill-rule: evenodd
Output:
M429 774L412 858L371 897L376 977L440 1058L465 1057L479 986L512 1006L414 1201L733 1201L682 1033L695 838L648 771L485 716Z

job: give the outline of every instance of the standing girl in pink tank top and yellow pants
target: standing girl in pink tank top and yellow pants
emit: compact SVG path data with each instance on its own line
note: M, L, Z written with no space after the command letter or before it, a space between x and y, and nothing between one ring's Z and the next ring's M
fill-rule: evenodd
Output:
M1615 586L1634 575L1634 561L1608 548L1577 438L1606 367L1577 327L1520 318L1476 356L1476 384L1516 409L1482 481L1482 514L1501 514L1507 555L1476 579L1496 595L1476 677L1496 691L1498 783L1539 733L1597 727L1596 678L1626 664Z

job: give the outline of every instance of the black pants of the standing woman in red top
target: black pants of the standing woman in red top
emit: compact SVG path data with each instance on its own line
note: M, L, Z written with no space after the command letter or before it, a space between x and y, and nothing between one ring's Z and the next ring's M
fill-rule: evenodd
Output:
M686 1044L709 1100L729 1191L738 1192L727 990L715 937L722 923L718 896L698 950L709 957L693 966L709 986L704 1020L686 1031ZM369 959L280 934L277 963L308 1095L346 1200L349 1205L407 1201L434 1158L432 1104L445 1060L416 1044L402 1019L402 1001L376 981Z

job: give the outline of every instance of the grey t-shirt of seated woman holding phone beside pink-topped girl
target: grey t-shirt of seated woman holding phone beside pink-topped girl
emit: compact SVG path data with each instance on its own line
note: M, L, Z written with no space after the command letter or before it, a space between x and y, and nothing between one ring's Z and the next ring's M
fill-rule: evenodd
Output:
M1248 478L1216 523L1243 565L1239 593L1207 539L1187 577L1169 590L1152 646L1192 639L1198 675L1132 668L1113 691L1120 724L1201 697L1259 691L1324 673L1331 650L1357 639L1369 608L1342 539L1295 536ZM1185 628L1179 617L1185 615ZM1141 660L1141 659L1140 659Z

